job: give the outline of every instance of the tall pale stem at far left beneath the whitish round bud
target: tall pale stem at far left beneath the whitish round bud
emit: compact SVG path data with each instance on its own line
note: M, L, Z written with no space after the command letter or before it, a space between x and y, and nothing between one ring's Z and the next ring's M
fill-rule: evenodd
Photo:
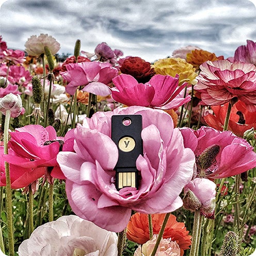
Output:
M8 154L8 130L11 118L11 111L6 110L5 115L5 128L4 128L4 154ZM13 222L12 222L12 191L9 163L5 162L5 176L6 176L6 211L7 211L7 226L8 226L8 242L9 242L9 255L14 255L14 235L13 235Z

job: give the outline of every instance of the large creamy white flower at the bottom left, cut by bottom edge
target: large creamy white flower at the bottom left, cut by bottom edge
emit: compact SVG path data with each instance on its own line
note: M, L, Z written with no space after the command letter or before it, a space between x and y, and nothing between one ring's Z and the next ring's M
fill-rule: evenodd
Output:
M78 216L62 216L33 231L22 242L20 256L117 256L117 234Z

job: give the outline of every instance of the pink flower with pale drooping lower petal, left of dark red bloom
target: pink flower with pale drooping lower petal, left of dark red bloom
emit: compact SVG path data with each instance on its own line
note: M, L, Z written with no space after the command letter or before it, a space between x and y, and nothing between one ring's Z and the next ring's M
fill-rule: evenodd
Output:
M111 93L107 84L118 74L118 70L109 63L81 62L66 65L67 71L60 74L68 81L66 91L73 95L79 86L83 91L106 96Z

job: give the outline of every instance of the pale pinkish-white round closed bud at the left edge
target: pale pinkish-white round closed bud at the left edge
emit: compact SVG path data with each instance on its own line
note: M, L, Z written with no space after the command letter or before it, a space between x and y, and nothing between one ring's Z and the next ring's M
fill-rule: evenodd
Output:
M11 117L18 117L21 114L22 101L19 94L9 93L0 99L0 111L6 115L6 110L11 111Z

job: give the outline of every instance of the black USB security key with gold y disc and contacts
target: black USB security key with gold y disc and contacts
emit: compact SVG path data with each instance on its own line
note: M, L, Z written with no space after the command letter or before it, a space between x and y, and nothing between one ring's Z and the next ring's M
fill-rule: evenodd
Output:
M139 186L136 159L143 155L141 115L117 115L111 119L111 139L118 147L116 164L116 188Z

